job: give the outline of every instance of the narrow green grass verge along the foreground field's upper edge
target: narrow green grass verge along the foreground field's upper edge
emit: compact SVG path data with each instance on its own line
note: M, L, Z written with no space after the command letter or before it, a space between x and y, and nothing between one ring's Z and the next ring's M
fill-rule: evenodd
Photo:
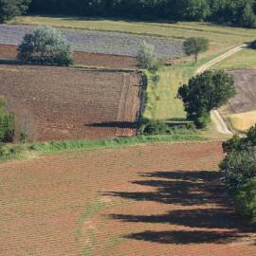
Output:
M172 136L139 136L116 137L100 140L64 140L42 143L1 144L0 160L29 159L40 155L53 155L71 152L90 151L95 149L111 149L132 145L153 144L159 142L178 141L206 141L207 137L199 135L172 135Z

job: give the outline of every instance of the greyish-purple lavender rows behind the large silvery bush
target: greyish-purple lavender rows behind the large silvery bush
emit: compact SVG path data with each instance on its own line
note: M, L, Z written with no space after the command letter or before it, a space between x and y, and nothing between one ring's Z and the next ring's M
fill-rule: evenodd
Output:
M34 27L0 25L0 45L18 46L24 35ZM145 40L155 46L159 58L167 59L184 55L182 40L119 32L62 29L74 50L137 56L140 43Z

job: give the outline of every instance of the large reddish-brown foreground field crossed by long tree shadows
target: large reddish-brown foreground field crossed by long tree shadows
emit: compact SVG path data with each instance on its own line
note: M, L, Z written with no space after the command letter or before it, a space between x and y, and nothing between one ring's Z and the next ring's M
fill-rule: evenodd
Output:
M188 142L2 163L0 255L255 256L222 157Z

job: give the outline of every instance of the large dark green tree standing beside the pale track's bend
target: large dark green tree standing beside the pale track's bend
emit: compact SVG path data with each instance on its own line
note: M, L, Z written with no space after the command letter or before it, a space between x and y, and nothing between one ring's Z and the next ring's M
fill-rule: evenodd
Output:
M177 97L184 103L187 119L197 128L205 128L210 122L210 111L226 104L234 95L231 75L224 71L206 71L181 86Z

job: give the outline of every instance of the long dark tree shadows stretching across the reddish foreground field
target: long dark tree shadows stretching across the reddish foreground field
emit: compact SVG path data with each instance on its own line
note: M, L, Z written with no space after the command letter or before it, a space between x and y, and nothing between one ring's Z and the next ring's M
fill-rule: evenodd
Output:
M140 174L139 180L132 183L153 190L107 194L134 201L168 204L174 210L156 215L111 214L109 217L130 223L165 224L165 227L170 226L172 229L135 232L125 235L125 238L162 244L228 244L245 239L255 231L235 214L217 172L145 173Z

